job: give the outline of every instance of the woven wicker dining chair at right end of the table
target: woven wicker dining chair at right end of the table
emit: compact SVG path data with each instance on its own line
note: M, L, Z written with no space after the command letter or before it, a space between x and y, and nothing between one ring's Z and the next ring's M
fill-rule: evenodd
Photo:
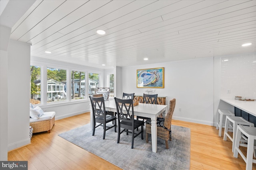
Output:
M165 140L166 149L169 149L168 140L172 141L171 125L172 125L172 114L175 108L175 104L176 104L176 99L170 100L169 110L166 115L166 118L164 119L161 117L157 117L156 119L157 136ZM146 143L148 143L148 133L151 134L151 121L149 119L146 120Z

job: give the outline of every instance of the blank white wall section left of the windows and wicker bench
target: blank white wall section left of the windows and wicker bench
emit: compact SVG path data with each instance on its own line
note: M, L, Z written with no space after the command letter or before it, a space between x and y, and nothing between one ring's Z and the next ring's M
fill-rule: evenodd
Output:
M10 40L8 47L8 150L30 143L30 44Z

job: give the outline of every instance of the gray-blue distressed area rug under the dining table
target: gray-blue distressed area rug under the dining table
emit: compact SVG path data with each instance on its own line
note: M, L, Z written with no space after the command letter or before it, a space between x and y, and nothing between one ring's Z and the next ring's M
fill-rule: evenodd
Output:
M96 128L95 135L92 136L90 124L61 133L59 136L124 170L190 169L190 129L186 127L172 125L169 149L165 148L165 141L158 138L156 153L152 152L151 135L148 135L146 143L145 133L144 140L140 135L134 139L134 149L131 149L132 135L122 133L120 143L117 143L114 128L106 131L104 140L102 127Z

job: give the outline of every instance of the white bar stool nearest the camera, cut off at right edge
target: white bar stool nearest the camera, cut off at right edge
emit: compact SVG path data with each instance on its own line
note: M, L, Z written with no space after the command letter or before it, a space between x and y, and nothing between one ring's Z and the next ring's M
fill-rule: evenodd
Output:
M239 149L239 146L243 146L243 144L240 144L240 138L242 136L241 133L248 137L246 157ZM244 162L246 163L246 170L252 170L252 163L256 163L256 159L253 159L252 157L254 150L254 140L256 140L256 127L248 127L242 125L237 126L234 157L237 158L238 153L242 156Z

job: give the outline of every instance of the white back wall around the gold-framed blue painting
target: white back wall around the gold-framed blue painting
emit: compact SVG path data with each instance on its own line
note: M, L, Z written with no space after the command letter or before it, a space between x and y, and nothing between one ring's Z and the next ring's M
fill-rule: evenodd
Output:
M176 98L173 119L213 125L213 58L122 67L123 92L146 93L147 88L136 88L136 70L159 67L164 67L164 88L156 93L167 96L166 104Z

